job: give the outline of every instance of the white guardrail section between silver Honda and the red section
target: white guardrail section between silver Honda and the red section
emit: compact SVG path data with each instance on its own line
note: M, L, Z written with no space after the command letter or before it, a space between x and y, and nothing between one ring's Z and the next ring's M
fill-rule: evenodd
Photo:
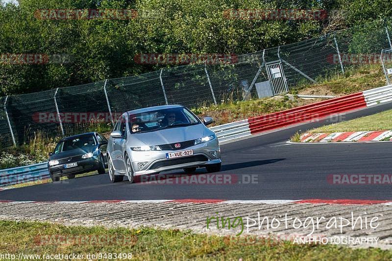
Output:
M226 123L210 128L217 135L218 141L226 142L251 135L247 119Z

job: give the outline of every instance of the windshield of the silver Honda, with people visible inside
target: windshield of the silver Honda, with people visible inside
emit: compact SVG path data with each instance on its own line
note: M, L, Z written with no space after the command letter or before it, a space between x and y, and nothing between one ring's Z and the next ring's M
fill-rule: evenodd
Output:
M199 124L200 121L186 108L154 110L129 116L132 134Z

